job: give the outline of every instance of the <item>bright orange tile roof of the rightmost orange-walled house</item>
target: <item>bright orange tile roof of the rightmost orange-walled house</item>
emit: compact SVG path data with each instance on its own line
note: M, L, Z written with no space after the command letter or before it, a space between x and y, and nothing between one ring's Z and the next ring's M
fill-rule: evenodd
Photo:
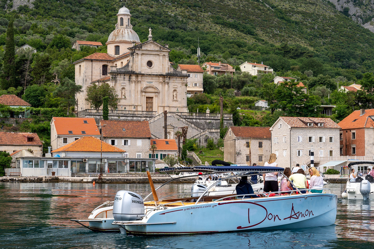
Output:
M349 114L345 119L340 121L338 125L342 129L354 129L364 127L374 127L374 109L366 109L364 115L360 116L360 110L356 110Z

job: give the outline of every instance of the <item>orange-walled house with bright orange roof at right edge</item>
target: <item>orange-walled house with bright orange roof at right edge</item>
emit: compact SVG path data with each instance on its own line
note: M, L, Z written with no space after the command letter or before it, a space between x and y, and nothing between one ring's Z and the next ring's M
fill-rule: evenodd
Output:
M340 155L374 157L374 109L356 110L338 125Z

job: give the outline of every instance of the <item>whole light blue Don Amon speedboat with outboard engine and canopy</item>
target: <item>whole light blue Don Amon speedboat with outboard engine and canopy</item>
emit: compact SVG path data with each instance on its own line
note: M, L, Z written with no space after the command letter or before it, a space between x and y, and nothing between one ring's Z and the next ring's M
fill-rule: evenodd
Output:
M264 166L195 166L193 170L210 173L247 172L242 176L250 176L250 172L282 174L283 171L280 167ZM152 190L150 195L143 199L134 192L121 190L114 197L115 221L112 224L118 226L121 233L180 235L298 229L329 226L336 220L337 196L329 189L324 189L323 193L300 194L300 190L294 186L295 190L292 191L209 196L209 188L215 186L212 185L199 197L174 193L158 198L149 171L147 174ZM223 178L218 182L234 177ZM148 200L150 196L153 200Z

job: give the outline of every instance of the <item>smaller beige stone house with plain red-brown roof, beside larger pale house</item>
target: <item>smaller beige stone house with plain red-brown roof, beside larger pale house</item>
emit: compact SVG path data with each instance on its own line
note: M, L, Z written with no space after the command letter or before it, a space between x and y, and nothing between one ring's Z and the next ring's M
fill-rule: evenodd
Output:
M270 152L269 127L230 126L224 135L224 161L263 165Z

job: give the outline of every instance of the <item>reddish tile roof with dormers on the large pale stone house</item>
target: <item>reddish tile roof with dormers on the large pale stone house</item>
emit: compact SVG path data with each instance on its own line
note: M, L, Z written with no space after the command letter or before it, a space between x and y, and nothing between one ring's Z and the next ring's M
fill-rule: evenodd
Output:
M280 117L280 119L292 128L340 128L330 118ZM313 123L313 126L308 126L308 123ZM318 126L318 123L323 123L323 126Z

